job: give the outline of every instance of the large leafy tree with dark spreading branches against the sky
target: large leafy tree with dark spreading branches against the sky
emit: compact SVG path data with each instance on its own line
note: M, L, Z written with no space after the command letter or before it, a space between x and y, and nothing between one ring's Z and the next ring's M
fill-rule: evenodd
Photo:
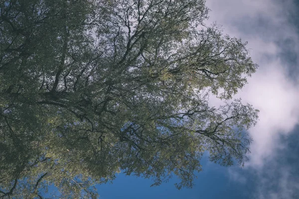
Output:
M2 0L0 198L97 198L115 173L192 187L208 151L248 158L258 110L227 101L257 65L204 0Z

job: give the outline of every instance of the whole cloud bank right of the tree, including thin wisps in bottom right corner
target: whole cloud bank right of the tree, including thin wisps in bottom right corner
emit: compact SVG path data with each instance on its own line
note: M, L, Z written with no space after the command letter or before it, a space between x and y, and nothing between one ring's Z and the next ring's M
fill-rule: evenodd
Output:
M299 35L290 21L298 11L295 2L207 0L206 4L211 9L207 23L216 21L223 25L224 33L248 41L250 55L260 66L236 96L260 110L258 124L249 131L254 142L246 165L259 176L255 196L292 198L299 190L293 175L296 168L280 161L288 146L282 137L298 133L295 128L299 123ZM242 174L229 173L232 179L246 182Z

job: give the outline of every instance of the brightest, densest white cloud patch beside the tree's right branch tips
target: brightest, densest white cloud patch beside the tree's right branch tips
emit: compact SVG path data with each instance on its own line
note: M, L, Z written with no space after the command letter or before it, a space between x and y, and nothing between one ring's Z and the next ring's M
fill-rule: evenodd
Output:
M291 133L298 124L299 89L276 60L263 65L239 95L260 110L258 124L249 131L254 139L250 164L263 166L264 159L281 146L279 136Z

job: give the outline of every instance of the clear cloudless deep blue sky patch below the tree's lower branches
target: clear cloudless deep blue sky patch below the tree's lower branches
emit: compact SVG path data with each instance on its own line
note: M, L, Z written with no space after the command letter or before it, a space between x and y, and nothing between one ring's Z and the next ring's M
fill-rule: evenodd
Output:
M240 199L250 198L251 187L236 182L227 174L227 168L203 159L203 172L198 173L193 189L177 190L173 178L159 187L149 187L149 179L118 175L113 184L98 186L100 199ZM234 168L241 170L240 168Z

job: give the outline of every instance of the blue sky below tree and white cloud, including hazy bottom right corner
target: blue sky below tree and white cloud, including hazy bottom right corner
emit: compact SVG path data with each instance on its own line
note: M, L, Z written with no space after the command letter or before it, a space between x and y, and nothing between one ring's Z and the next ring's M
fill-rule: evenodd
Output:
M281 137L286 147L261 170L221 167L208 162L205 156L204 171L197 174L193 189L177 190L173 185L177 182L175 178L159 187L150 187L149 179L123 174L112 184L98 185L97 189L100 199L298 199L298 140L297 128Z

